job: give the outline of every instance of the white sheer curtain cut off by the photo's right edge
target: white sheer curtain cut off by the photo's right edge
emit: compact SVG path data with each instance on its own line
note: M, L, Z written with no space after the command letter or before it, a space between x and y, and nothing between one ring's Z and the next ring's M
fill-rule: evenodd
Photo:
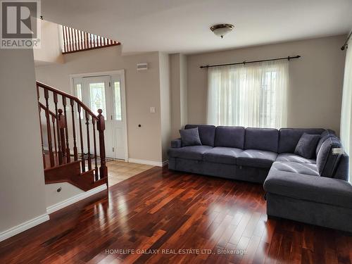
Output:
M349 40L346 51L340 130L342 145L350 157L349 181L352 183L352 39Z

